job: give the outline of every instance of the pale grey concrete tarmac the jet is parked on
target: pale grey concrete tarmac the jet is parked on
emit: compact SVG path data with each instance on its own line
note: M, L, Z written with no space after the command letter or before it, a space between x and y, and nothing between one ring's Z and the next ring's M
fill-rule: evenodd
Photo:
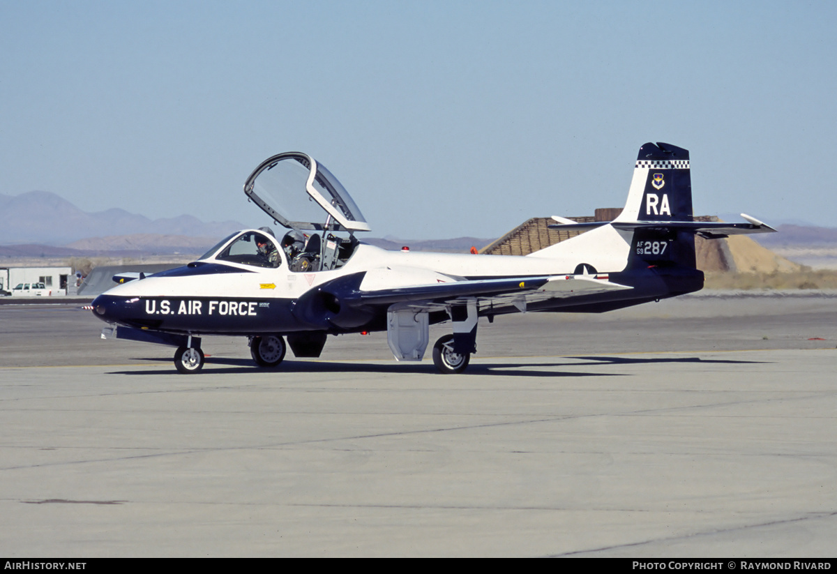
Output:
M460 376L0 325L2 556L834 556L834 294L480 320Z

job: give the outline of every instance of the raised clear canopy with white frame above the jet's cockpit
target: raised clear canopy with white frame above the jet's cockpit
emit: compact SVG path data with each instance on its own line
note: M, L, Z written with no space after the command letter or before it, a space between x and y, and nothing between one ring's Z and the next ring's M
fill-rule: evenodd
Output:
M346 188L326 167L299 151L262 161L244 183L244 193L286 228L369 231Z

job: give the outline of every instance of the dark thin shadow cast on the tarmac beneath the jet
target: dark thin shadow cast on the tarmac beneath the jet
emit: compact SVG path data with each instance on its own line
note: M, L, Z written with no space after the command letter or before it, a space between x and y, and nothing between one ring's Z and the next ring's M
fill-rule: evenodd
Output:
M739 364L739 363L758 363L763 361L732 361L720 359L701 359L700 357L624 357L624 356L573 356L568 357L588 362L549 362L549 363L527 363L527 362L502 362L502 363L473 363L469 366L468 372L462 373L462 376L469 375L492 375L492 376L513 376L513 377L622 377L627 373L615 372L562 372L553 371L551 369L557 367L583 367L592 365L653 365L655 363L722 363L722 364ZM137 358L137 361L151 361L151 362L165 362L171 363L171 359L162 357L146 357ZM280 366L272 369L259 368L254 366L253 361L249 359L236 359L227 357L213 357L208 356L206 361L209 367L203 373L206 374L249 374L254 375L264 372L273 372L277 375L283 373L312 373L312 372L368 372L368 373L389 373L393 375L398 374L434 374L436 370L432 364L408 364L408 363L388 363L388 364L370 364L367 362L326 362L326 361L283 361ZM158 371L119 371L111 372L112 375L171 375L173 368L166 368Z

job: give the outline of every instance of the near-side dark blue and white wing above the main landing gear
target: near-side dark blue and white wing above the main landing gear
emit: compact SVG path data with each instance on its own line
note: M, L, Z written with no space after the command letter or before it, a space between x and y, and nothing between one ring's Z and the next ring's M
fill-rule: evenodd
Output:
M593 275L542 275L502 279L465 279L448 283L361 291L362 305L393 305L433 308L465 303L470 298L497 304L525 304L537 300L578 297L614 290L632 289Z

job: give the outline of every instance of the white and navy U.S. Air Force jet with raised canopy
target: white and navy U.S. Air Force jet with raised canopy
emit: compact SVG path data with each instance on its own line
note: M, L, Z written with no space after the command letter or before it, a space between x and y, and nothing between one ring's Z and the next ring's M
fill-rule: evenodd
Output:
M245 229L198 260L153 275L116 276L94 314L116 337L175 346L182 373L203 367L201 336L240 335L258 366L320 356L329 335L387 331L398 361L420 361L429 325L449 321L433 347L442 373L465 370L477 320L506 313L593 312L691 293L703 286L695 235L724 238L775 229L692 218L689 152L639 149L624 210L612 222L562 228L586 233L524 256L388 251L355 236L369 230L331 172L304 153L263 161L244 193L286 232Z

